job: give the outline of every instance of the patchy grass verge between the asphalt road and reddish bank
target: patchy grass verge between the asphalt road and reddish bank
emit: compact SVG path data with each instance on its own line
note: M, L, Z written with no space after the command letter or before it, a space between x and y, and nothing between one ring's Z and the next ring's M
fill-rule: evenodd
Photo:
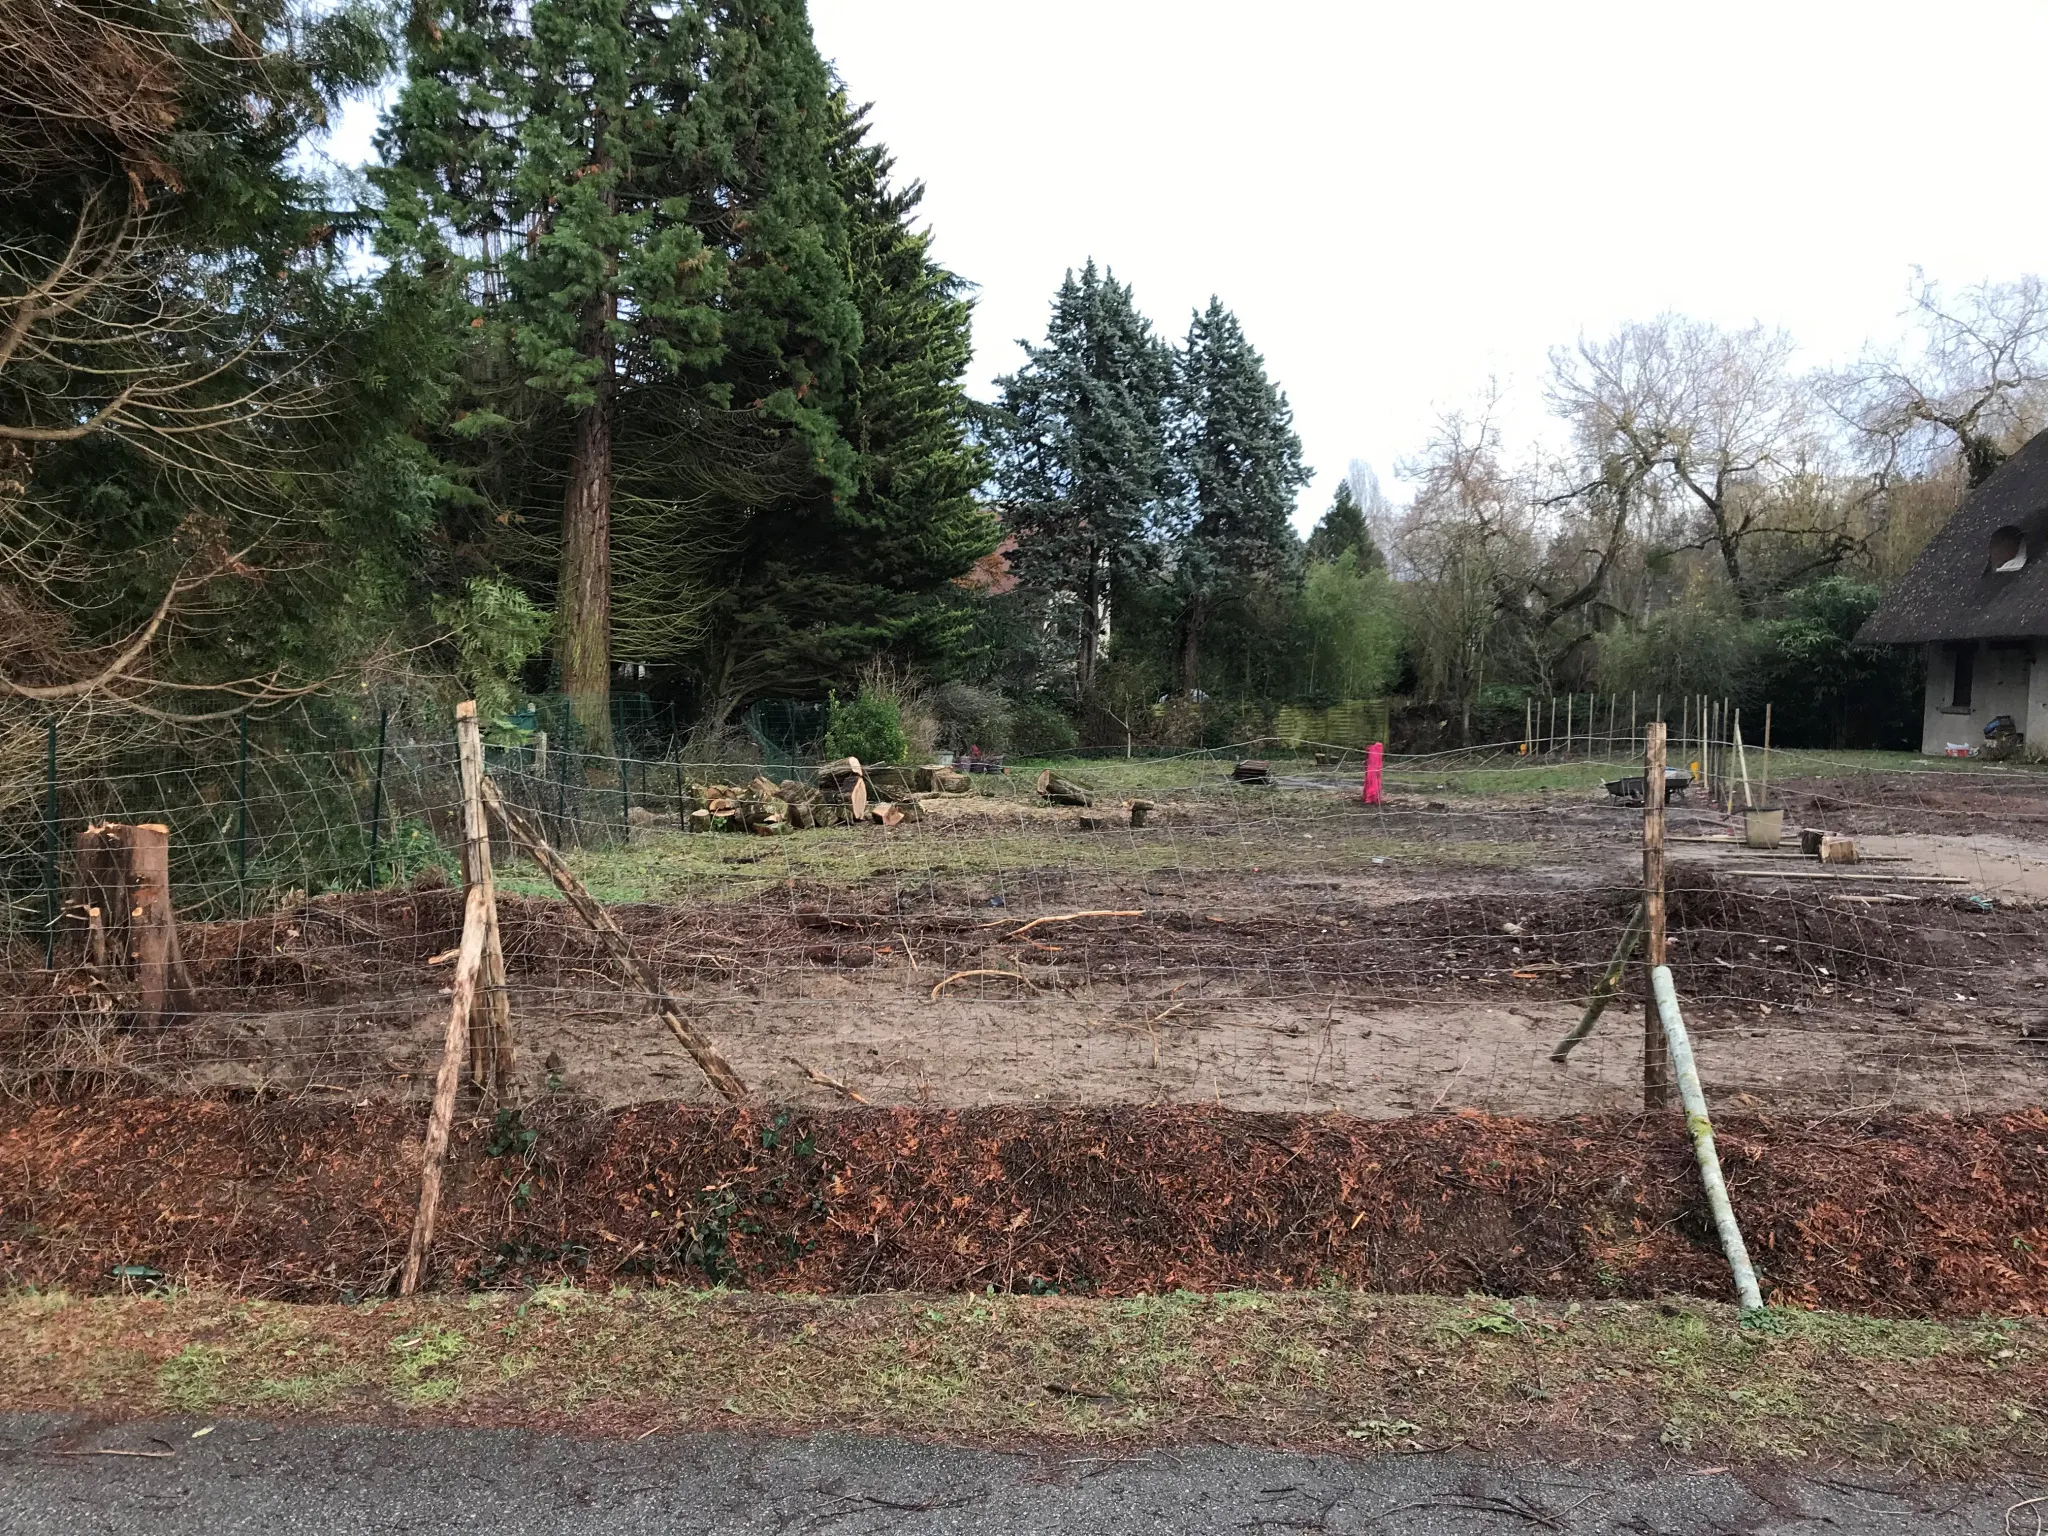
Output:
M0 1298L0 1409L446 1425L866 1430L2013 1466L2048 1323L1698 1303L1307 1294L764 1296L549 1288L358 1307Z

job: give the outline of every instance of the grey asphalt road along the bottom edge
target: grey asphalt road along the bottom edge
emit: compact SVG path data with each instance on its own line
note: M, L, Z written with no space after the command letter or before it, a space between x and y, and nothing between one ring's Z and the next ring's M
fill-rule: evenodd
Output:
M0 1530L74 1536L641 1532L1628 1532L2036 1536L2048 1483L1776 1477L1649 1462L1001 1454L856 1434L573 1440L498 1430L94 1423L0 1415ZM147 1452L111 1456L109 1450Z

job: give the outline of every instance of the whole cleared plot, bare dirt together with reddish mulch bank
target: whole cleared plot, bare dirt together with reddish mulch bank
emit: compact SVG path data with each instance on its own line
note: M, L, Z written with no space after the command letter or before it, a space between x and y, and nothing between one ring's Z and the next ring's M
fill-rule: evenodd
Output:
M754 1085L739 1120L690 1108L694 1067L565 903L506 895L526 1118L465 1108L440 1282L1720 1294L1675 1118L1565 1118L1638 1106L1638 985L1548 1061L1638 899L1612 766L1526 770L1520 795L1417 780L1384 807L1348 782L1128 772L1165 807L1153 825L1081 829L1006 784L895 829L571 848ZM1872 850L1919 844L1821 870L1751 858L1710 807L1671 817L1671 965L1759 1266L1800 1303L2048 1305L2042 1137L2019 1114L2048 1098L2042 913L1989 881L1905 879L1989 836L1985 868L2032 879L2048 776L1780 788ZM6 1081L88 1102L16 1122L8 1272L375 1292L412 1214L457 915L428 885L195 924L195 1014L158 1034L94 1012L76 967L16 969ZM1440 1155L1491 1124L1454 1118L1473 1112L1513 1128ZM829 1174L782 1165L791 1114L813 1153L840 1149ZM799 1188L819 1231L786 1221Z

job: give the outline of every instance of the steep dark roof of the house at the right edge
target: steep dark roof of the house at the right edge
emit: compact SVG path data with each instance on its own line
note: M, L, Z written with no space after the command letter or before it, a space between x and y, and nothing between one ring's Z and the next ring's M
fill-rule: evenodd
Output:
M2017 571L1993 569L2001 530L2019 535L2025 563ZM2007 535L2001 557L2009 551ZM1858 639L1917 645L2034 635L2048 635L2048 432L1962 500Z

